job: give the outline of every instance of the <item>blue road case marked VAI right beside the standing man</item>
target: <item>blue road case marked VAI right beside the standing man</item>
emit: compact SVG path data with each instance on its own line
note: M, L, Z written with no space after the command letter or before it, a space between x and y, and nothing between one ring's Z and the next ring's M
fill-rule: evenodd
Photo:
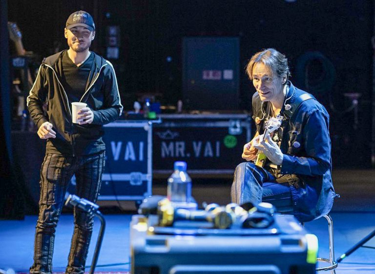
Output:
M105 167L99 200L151 195L152 122L116 121L104 126Z

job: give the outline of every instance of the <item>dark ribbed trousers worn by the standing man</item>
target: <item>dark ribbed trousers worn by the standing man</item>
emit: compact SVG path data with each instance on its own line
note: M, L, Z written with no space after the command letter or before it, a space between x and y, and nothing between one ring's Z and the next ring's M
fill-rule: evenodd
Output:
M46 154L41 169L41 197L31 274L52 274L55 230L64 205L65 192L73 174L76 193L96 202L104 169L104 152L80 157ZM83 274L94 216L74 209L74 234L68 256L67 274Z

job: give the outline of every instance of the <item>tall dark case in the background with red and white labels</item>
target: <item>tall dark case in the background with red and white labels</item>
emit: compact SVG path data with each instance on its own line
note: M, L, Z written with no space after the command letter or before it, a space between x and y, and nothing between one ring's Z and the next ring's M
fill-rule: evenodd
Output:
M182 64L183 100L188 109L238 109L238 37L186 37Z

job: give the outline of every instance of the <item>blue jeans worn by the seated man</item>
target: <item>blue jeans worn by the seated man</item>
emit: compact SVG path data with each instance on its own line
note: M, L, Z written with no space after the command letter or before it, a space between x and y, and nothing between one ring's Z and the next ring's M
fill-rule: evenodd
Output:
M278 211L292 211L292 194L290 182L297 180L295 175L279 175L277 170L271 172L245 162L236 167L231 187L231 200L239 205L246 202L269 202Z

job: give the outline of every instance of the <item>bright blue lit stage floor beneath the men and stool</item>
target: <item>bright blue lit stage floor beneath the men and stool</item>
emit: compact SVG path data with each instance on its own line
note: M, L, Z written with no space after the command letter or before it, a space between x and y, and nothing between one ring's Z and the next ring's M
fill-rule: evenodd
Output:
M334 226L335 257L346 252L357 241L375 229L375 213L345 213L331 214ZM105 215L107 222L102 250L96 272L129 271L129 222L131 215ZM26 216L24 220L0 221L0 269L12 268L16 272L27 272L32 264L33 241L37 216ZM86 271L95 248L100 222L95 219L94 234L88 255ZM305 228L319 238L319 256L328 257L327 222L324 218L306 223ZM70 239L73 232L73 216L61 216L56 231L53 270L64 272ZM375 238L367 245L375 246ZM329 273L329 272L325 272ZM339 263L337 274L374 274L375 250L360 248Z

